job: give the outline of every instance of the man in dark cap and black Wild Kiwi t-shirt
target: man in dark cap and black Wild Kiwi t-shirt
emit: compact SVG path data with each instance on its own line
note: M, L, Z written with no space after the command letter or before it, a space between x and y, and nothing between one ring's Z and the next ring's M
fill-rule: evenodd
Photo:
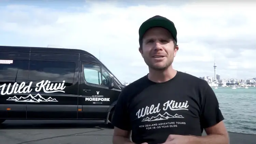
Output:
M209 84L172 68L179 49L176 36L173 22L165 17L154 16L141 25L139 51L149 73L121 92L112 119L113 144L229 143Z

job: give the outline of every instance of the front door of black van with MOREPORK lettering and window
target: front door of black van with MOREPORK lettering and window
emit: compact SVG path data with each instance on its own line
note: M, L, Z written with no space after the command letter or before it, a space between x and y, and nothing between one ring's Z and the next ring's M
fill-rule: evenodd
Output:
M114 89L109 89L110 74L99 64L81 62L78 105L79 118L105 119L113 103Z

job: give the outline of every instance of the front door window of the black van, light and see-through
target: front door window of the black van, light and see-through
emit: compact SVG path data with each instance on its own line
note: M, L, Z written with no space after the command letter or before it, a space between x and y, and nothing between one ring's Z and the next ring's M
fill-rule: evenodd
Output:
M87 83L109 86L110 75L100 66L84 64L84 78Z

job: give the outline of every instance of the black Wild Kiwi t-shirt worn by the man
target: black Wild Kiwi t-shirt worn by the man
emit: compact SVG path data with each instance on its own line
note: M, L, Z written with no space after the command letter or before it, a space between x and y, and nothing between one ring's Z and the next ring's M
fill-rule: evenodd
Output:
M201 136L204 128L224 119L209 84L177 72L155 83L147 75L126 86L118 98L112 124L132 131L132 141L158 144L169 134Z

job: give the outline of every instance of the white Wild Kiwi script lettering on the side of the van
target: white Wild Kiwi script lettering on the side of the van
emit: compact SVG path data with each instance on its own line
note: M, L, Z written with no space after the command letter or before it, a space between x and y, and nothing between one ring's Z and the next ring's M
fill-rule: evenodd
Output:
M17 84L16 82L12 85L12 84L3 84L0 86L0 90L1 90L1 95L11 95L11 94L16 94L16 93L30 93L32 91L31 89L31 85L33 82L30 82L28 86L26 86L25 82L22 82L20 85ZM65 89L66 86L64 86L65 81L63 81L62 83L51 83L51 81L41 81L39 83L37 83L35 86L35 91L39 92L41 91L41 89L45 92L45 93L53 93L53 92L65 92L63 91L63 89ZM12 86L12 89L10 89Z

